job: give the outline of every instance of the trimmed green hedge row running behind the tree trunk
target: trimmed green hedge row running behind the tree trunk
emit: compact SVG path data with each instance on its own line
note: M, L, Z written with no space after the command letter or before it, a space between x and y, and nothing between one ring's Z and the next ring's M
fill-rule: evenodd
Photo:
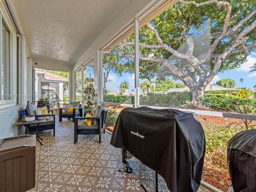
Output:
M229 96L226 96L229 93ZM140 95L140 105L161 106L161 107L180 107L188 104L191 100L191 92L170 92L167 94L148 93ZM115 96L104 95L105 102L134 104L134 96ZM240 98L232 95L231 90L207 91L204 97L200 98L202 105L213 108L214 110L234 110L240 106L249 106L250 111L256 108L256 99Z

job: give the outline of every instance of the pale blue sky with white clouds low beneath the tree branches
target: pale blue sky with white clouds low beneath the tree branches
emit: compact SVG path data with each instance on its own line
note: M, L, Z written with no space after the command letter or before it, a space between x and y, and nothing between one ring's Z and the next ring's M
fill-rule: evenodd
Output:
M247 57L247 62L245 62L240 68L232 69L225 71L223 73L217 74L212 79L211 83L216 83L220 79L230 78L236 82L235 87L247 87L253 88L256 85L256 72L249 72L250 67L256 63L256 53L251 53L250 56ZM240 82L240 79L243 78L243 83ZM110 91L114 89L118 89L119 83L123 81L127 81L129 84L129 90L134 90L134 74L130 76L130 74L123 74L121 78L119 78L116 74L110 73L109 75L110 82L107 82L106 88ZM144 80L140 80L140 83Z

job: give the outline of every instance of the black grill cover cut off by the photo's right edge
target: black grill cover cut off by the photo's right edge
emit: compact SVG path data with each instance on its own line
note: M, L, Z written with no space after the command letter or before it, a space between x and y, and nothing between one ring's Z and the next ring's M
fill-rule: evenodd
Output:
M256 129L230 139L227 158L234 192L256 192Z

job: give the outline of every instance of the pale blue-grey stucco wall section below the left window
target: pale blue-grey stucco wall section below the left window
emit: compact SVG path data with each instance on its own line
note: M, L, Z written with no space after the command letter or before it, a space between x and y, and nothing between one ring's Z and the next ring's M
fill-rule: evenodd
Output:
M25 134L25 127L18 127L18 119L20 118L20 110L23 106L15 106L6 110L0 111L0 139L14 137Z

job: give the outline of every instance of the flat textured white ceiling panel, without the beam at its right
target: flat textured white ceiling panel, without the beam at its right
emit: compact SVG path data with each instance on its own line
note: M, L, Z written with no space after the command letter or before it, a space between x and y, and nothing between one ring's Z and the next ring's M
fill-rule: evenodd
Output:
M33 63L72 66L130 0L13 0Z

